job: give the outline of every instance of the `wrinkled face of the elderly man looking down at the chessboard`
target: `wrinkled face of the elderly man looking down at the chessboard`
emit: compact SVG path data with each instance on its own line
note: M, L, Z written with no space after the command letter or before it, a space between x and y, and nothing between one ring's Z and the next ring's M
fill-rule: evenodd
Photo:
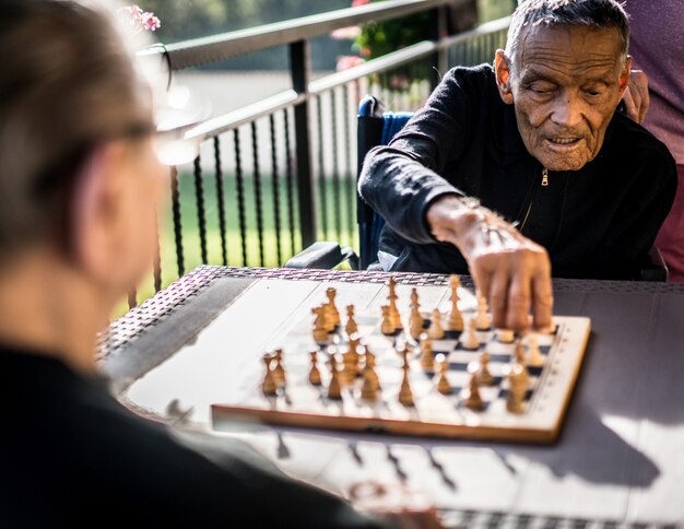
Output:
M502 98L528 151L551 171L593 160L629 79L617 30L524 28L512 58L497 52Z

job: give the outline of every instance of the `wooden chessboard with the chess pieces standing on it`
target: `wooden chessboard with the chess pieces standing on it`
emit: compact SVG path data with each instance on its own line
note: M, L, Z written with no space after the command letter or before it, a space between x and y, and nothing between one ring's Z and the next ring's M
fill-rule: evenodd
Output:
M260 368L247 369L238 398L212 404L214 422L526 443L558 436L588 318L554 316L552 329L526 336L492 329L484 298L456 277L448 293L424 299L416 289L398 294L392 280L362 307L335 306L337 293L318 289L315 306L308 298L264 340L252 356Z

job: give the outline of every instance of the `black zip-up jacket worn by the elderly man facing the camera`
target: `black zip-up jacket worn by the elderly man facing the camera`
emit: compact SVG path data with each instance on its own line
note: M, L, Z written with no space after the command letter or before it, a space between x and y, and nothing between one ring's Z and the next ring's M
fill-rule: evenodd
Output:
M598 156L581 169L549 172L526 149L515 108L491 64L455 68L426 106L364 163L359 192L387 225L380 250L392 270L467 273L458 249L425 219L445 195L480 199L550 254L553 275L630 279L653 245L676 191L663 143L616 113Z

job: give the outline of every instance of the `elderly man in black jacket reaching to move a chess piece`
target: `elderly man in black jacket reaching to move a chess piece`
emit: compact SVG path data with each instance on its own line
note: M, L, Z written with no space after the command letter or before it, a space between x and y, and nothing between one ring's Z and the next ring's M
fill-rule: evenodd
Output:
M551 269L630 278L676 189L672 156L615 114L629 81L614 0L528 0L494 66L449 71L359 191L391 270L465 272L494 324L550 324ZM495 213L496 212L496 213Z

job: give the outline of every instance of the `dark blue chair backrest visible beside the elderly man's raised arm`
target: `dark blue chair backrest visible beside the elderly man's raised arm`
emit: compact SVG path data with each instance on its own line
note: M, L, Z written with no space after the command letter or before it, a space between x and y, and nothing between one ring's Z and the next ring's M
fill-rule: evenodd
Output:
M358 106L358 173L370 149L387 145L406 125L413 113L382 111L382 104L367 95ZM376 213L361 197L357 202L361 249L361 268L365 270L377 260L378 242L385 219Z

